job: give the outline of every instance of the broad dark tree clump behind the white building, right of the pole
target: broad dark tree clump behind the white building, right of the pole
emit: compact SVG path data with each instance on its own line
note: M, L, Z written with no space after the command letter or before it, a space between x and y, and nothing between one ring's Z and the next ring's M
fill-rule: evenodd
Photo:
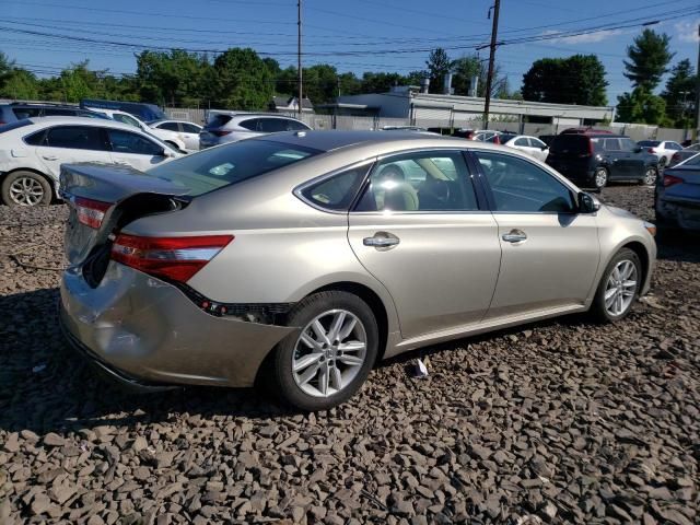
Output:
M523 75L523 98L532 102L603 106L605 67L595 55L542 58Z

